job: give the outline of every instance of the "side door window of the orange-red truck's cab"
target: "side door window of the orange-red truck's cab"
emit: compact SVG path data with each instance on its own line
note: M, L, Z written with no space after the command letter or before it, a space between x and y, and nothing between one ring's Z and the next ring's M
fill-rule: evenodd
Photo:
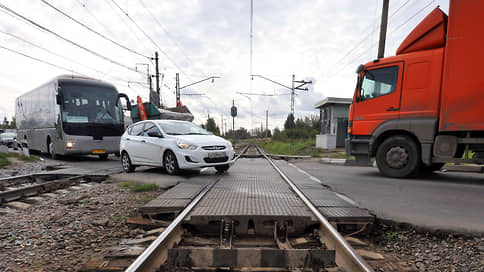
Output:
M398 66L367 70L361 84L360 100L368 100L395 91Z

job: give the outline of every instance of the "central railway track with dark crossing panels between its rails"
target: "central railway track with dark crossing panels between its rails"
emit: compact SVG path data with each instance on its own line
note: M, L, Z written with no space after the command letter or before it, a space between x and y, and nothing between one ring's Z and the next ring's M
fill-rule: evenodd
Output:
M176 213L166 229L125 271L373 271L263 150L256 145L247 146L238 155L237 163L243 157L263 158L252 164L267 165L263 169L272 183L245 182L237 177L231 179L230 173L219 174ZM276 185L282 189L272 190ZM283 216L277 211L278 205L259 203L261 207L275 209L274 215L260 217L259 210L264 207L244 202L236 209L245 212L254 209L248 213L253 216L240 212L227 216L223 210L233 208L230 202L240 200L237 194L232 194L229 204L219 203L226 207L216 207L218 213L204 213L210 209L210 203L220 201L217 194L226 193L224 190L229 187L235 191L255 190L256 194L251 195L254 199L249 200L252 202L266 201L264 196L257 196L264 195L265 188L272 197L269 201L278 198L280 203L292 201L295 204L289 208L295 212ZM303 216L305 213L310 213L310 217Z

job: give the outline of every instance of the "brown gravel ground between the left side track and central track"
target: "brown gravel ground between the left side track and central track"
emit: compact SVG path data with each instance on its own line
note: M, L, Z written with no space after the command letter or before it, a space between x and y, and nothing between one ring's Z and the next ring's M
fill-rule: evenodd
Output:
M159 193L96 184L0 215L0 271L77 271L133 237L124 219Z

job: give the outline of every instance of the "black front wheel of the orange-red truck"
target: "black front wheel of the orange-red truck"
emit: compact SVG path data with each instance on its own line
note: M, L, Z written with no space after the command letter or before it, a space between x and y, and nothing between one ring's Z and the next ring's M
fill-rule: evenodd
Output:
M378 147L376 163L384 176L414 177L420 169L420 149L408 136L392 136Z

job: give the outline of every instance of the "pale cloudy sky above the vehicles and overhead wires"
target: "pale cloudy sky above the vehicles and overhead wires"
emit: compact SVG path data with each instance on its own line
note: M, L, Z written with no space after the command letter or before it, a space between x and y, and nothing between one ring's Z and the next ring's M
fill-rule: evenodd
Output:
M254 0L252 73L286 86L291 85L292 74L296 80L315 79L308 92L298 92L296 117L317 114L314 104L326 96L352 97L356 67L377 54L382 2ZM236 127L260 127L266 110L269 128L282 127L290 111L289 90L249 76L250 0L0 0L0 4L1 119L14 116L17 96L60 74L103 79L131 99L140 95L147 100L146 85L136 83L146 82L146 75L137 70L145 72L147 66L140 63L147 63L150 73L154 71L148 57L155 51L160 54L161 92L168 106L175 104L175 73L180 73L182 86L221 77L182 90L182 102L197 123L210 114L219 126L222 115L231 124L233 99L239 109ZM448 0L390 0L385 55L393 55L408 32L438 5L448 12Z

